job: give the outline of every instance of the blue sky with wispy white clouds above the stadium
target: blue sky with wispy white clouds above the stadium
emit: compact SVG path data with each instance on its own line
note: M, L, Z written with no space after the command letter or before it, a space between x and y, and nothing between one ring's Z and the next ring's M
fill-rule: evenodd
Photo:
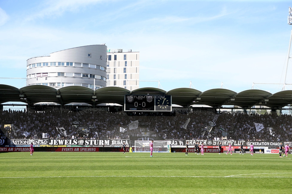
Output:
M140 80L169 91L241 92L283 83L291 1L1 0L0 84L26 85L26 60L106 43L140 52ZM291 62L291 61L290 61ZM286 83L292 83L289 63ZM158 87L140 82L140 87ZM290 87L290 86L288 86ZM282 85L256 84L276 93Z

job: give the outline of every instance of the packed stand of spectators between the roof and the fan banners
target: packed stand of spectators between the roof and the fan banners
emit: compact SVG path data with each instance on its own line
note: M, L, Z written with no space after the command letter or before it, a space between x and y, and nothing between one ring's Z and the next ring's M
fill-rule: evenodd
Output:
M213 113L177 113L175 116L128 116L124 111L101 112L30 112L0 110L1 138L43 138L48 139L128 139L139 138L142 133L160 139L221 139L223 131L227 139L255 141L283 141L292 137L292 116L277 114L221 113L215 126L206 130ZM129 124L138 121L138 127L129 129ZM186 124L186 121L187 124ZM255 123L263 125L257 132ZM12 124L12 125L11 125ZM89 126L86 133L80 133L77 126ZM66 136L57 128L64 128ZM121 132L120 127L124 129Z

